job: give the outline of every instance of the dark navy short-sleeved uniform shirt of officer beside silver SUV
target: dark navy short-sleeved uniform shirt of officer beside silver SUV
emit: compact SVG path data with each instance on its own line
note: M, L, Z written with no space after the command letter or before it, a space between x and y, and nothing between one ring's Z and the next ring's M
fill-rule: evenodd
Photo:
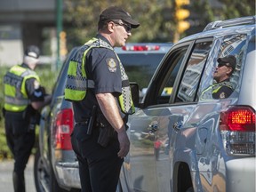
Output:
M105 37L98 35L97 38L109 44ZM76 122L84 122L90 117L93 105L98 107L97 113L101 113L95 94L111 92L118 102L117 98L122 93L120 65L114 51L104 47L92 48L86 54L85 71L87 77L94 81L95 88L86 92L84 100L73 102Z

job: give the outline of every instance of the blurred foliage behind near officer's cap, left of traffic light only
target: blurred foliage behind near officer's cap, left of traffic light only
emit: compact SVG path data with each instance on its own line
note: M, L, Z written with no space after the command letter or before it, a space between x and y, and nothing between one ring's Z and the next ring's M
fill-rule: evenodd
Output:
M124 10L131 13L134 20L140 21L140 28L132 31L130 42L166 42L171 40L172 20L165 20L162 14L163 10L168 7L170 8L169 14L172 15L170 0L66 0L64 3L66 10L63 14L64 30L68 33L68 44L71 43L72 46L84 43L95 36L99 14L109 5L122 6Z

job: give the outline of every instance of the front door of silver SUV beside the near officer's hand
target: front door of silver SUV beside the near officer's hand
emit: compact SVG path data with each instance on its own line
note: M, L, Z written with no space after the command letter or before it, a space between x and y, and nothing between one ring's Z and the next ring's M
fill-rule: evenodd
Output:
M172 86L175 76L180 68L182 60L184 60L186 48L182 48L179 52L175 52L175 60L178 64L169 66L172 68L172 81L169 81L166 87L163 87L159 94L155 94L155 99L148 108L138 110L134 115L129 117L129 132L131 140L130 154L124 160L124 173L126 182L128 182L129 188L132 191L158 191L157 173L156 173L156 160L163 158L162 156L162 143L168 142L168 138L159 138L156 134L159 124L159 118L161 116L170 115L168 110L164 110L166 104L171 97ZM165 58L165 60L171 60ZM171 62L166 65L172 65ZM166 66L165 66L166 67ZM161 69L162 71L162 69ZM158 73L156 73L158 74ZM163 77L164 74L157 78ZM156 88L152 84L152 88L148 88L148 92L155 93L153 90ZM160 90L158 90L160 91ZM151 95L148 96L150 100ZM165 120L163 119L163 122ZM161 152L159 151L161 149ZM161 155L161 156L158 156Z

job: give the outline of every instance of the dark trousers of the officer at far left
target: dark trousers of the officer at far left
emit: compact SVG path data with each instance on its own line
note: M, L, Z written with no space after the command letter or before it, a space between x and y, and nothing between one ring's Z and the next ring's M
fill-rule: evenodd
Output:
M25 191L24 171L35 143L35 131L28 132L29 119L20 114L5 114L5 134L8 147L14 157L12 173L15 192Z

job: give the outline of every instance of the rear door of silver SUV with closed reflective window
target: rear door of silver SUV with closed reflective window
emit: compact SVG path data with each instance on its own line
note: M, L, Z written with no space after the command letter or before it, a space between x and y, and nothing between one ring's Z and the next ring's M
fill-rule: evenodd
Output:
M173 180L173 164L174 158L176 158L176 146L179 146L180 150L186 155L178 156L180 161L183 157L190 156L190 150L188 146L194 142L194 135L196 132L196 121L200 120L200 117L207 113L198 116L197 110L197 90L200 84L200 80L204 71L205 63L208 59L209 52L212 48L212 38L197 40L191 42L190 49L187 52L188 59L184 60L183 67L180 68L179 78L176 78L172 97L168 107L164 108L164 111L168 111L169 115L163 113L158 118L157 137L161 140L164 139L164 145L162 146L162 153L156 159L156 175L158 183L158 191L172 191ZM172 56L171 56L172 58ZM174 65L175 63L172 63ZM166 76L168 78L168 76ZM167 82L163 82L159 87L166 87L172 79L168 79ZM205 108L211 110L208 106ZM200 111L203 109L200 108ZM196 116L195 116L196 114ZM202 130L203 132L204 130ZM180 136L181 135L181 136ZM185 162L185 160L183 160ZM174 178L176 179L176 178ZM182 185L184 190L191 186L191 180L183 180ZM188 184L186 184L188 182ZM170 184L171 183L171 184Z

